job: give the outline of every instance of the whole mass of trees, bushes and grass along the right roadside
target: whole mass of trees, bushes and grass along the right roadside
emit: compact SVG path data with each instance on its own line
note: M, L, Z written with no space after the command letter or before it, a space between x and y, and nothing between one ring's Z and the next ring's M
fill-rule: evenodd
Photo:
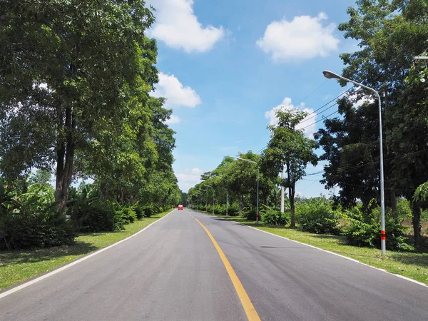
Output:
M259 228L305 243L310 240L352 258L360 255L357 259L362 262L427 283L428 69L414 57L428 56L428 5L426 1L357 1L347 14L349 21L339 30L359 48L340 54L342 76L379 92L383 137L379 137L377 97L358 86L330 102L335 104L322 107L320 113L337 105L337 112L314 120L312 124L322 121L324 126L313 136L302 122L312 125L316 115L278 108L277 123L267 128L266 147L258 153L238 153L236 158L225 156L190 188L188 203L216 215L228 212L233 220L239 215L245 224L259 216ZM386 258L377 250L381 139ZM322 170L307 171L307 165L321 162ZM300 198L297 188L302 180L320 181L330 196ZM281 187L286 190L284 213Z

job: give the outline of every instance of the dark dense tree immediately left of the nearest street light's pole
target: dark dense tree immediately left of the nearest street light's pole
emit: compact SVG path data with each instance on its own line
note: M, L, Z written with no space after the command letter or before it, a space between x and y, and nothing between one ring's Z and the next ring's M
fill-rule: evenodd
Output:
M379 132L377 108L364 103L355 108L349 98L339 101L341 117L325 120L325 128L315 133L324 153L322 183L340 188L336 203L349 208L362 201L367 209L373 198L379 200Z

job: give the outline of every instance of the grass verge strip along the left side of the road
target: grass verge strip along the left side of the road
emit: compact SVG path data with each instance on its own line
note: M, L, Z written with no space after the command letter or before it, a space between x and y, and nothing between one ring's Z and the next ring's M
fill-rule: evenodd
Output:
M0 290L12 285L54 270L88 253L123 240L142 228L162 218L171 210L153 215L151 218L136 220L135 223L125 225L125 230L108 233L87 233L76 238L71 246L48 248L40 250L15 250L0 252Z

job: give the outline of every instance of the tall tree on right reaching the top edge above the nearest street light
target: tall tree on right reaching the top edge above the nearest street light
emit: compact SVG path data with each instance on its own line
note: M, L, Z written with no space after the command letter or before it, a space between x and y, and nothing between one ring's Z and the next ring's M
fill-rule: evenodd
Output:
M412 86L405 81L413 57L427 46L428 4L424 0L360 0L347 13L350 20L340 24L339 29L345 31L345 38L359 41L361 50L340 56L345 63L343 76L382 93L385 187L394 208L397 194L411 200L417 186L428 180L427 156L422 153L427 126L421 126L424 117L417 111L420 96L411 95L409 101ZM412 208L417 245L420 209L417 205Z

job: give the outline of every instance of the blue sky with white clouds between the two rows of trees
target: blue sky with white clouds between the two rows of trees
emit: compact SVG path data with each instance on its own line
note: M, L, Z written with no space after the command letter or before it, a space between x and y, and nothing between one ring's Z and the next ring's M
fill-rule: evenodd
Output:
M161 72L154 94L173 108L173 168L183 191L224 156L260 151L269 140L266 127L275 121L273 108L311 113L345 90L322 71L339 73L339 54L357 50L357 43L337 30L355 1L148 3L156 8L148 36L158 40ZM334 111L337 107L305 121L307 136L322 126L322 121L312 123ZM320 170L322 163L308 166L307 173ZM297 183L297 192L328 195L318 179L308 176Z

